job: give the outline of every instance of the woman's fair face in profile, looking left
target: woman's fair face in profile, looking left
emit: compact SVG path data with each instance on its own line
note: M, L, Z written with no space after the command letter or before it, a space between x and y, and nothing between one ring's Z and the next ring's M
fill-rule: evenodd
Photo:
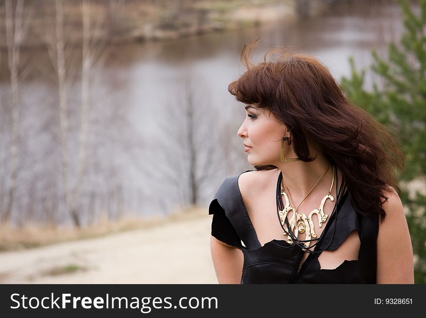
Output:
M280 162L281 138L286 136L286 126L267 109L248 105L245 111L246 117L237 135L244 140L247 161L253 166L276 166ZM285 151L293 153L292 147L285 145ZM289 158L291 154L284 153L284 156Z

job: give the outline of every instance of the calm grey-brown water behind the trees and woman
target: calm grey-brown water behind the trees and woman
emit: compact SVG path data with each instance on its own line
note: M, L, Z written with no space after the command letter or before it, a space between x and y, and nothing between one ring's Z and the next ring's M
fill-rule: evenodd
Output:
M384 54L387 42L399 38L402 22L392 2L347 1L326 15L300 21L108 47L102 54L104 60L94 65L91 80L90 160L80 205L85 222L95 222L101 213L110 217L167 213L187 203L188 101L194 106L197 123L198 140L193 141L200 156L197 173L208 171L207 179L199 184L198 202L207 205L225 177L250 168L236 136L245 113L228 93L228 84L243 72L239 61L243 45L259 38L260 53L275 45L310 53L340 80L350 75L349 56L358 67L368 67L372 48ZM70 63L76 65L68 98L73 131L79 127L78 54L76 50L70 55ZM22 84L21 198L16 202L16 220L24 223L31 206L35 215L58 210L50 218L63 222L68 217L61 200L57 83L49 77L52 66L44 50L31 52L27 59L30 75ZM5 78L3 74L1 90L7 107L10 96ZM367 73L367 86L374 80ZM9 126L3 119L3 131ZM74 183L76 136L69 135ZM206 163L207 158L212 162ZM37 189L32 203L30 184ZM43 208L46 201L57 203Z

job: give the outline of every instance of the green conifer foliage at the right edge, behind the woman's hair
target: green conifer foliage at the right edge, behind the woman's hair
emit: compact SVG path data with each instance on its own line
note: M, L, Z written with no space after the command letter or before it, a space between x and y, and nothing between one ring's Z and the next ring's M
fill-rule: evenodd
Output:
M388 45L386 58L372 51L371 70L380 81L367 91L365 70L357 71L350 58L351 75L342 78L341 86L354 104L396 131L400 140L406 155L406 169L400 176L401 200L406 208L413 245L415 283L425 284L426 0L419 0L416 10L408 0L397 2L403 14L403 35L398 43Z

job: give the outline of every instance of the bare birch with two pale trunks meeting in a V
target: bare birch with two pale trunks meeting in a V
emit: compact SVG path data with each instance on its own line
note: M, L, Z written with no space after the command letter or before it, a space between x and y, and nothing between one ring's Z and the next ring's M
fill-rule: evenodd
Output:
M109 1L109 13L117 7L118 1ZM108 10L105 10L108 12ZM55 0L55 34L48 36L48 51L55 68L59 90L59 142L61 145L61 167L63 180L63 197L67 211L70 213L74 225L81 226L81 200L83 183L88 167L88 138L91 135L91 86L96 77L97 69L106 61L105 49L110 41L109 29L111 21L107 14L92 15L91 1L81 2L81 103L79 107L79 121L77 130L77 156L71 151L72 134L68 106L68 78L66 35L64 24L64 2ZM73 173L75 171L76 173Z

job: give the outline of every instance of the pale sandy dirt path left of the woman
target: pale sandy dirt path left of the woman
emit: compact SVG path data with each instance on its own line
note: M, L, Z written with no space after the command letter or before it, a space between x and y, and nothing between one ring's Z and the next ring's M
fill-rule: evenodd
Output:
M7 284L217 284L211 217L0 254Z

